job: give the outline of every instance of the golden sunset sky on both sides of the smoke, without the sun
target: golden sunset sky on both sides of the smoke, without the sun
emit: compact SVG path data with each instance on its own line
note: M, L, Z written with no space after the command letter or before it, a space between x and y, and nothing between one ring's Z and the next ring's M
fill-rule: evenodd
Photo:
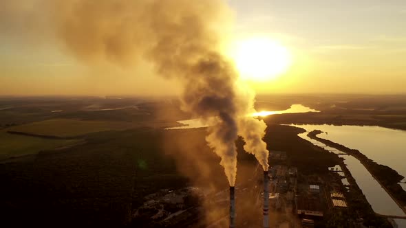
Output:
M8 0L6 0L8 1ZM291 56L289 69L257 93L405 93L406 1L228 0L232 39L266 37ZM1 13L1 10L0 10ZM0 23L8 23L2 13ZM44 35L0 32L0 95L173 95L179 85L146 64L87 65ZM11 31L11 29L10 29Z

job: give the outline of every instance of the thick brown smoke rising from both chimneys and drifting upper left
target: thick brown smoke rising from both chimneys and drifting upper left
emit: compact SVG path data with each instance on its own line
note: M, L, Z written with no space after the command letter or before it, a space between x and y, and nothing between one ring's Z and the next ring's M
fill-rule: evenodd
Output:
M266 125L246 116L252 100L239 97L237 73L218 51L219 31L225 30L222 22L229 15L224 1L21 0L1 1L0 8L7 12L0 27L7 25L12 32L13 23L20 28L35 24L26 36L53 34L79 60L122 66L147 61L160 76L180 80L183 108L195 118L217 119L206 141L221 157L231 186L238 134L246 141L244 149L268 168L261 140Z

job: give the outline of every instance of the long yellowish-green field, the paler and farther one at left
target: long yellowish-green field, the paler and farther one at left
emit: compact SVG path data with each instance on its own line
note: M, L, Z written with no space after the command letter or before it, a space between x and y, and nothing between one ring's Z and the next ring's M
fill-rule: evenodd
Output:
M79 119L47 119L21 126L7 128L7 130L32 133L36 135L54 135L58 137L72 137L105 130L125 130L135 126L132 122L118 121L90 121Z

